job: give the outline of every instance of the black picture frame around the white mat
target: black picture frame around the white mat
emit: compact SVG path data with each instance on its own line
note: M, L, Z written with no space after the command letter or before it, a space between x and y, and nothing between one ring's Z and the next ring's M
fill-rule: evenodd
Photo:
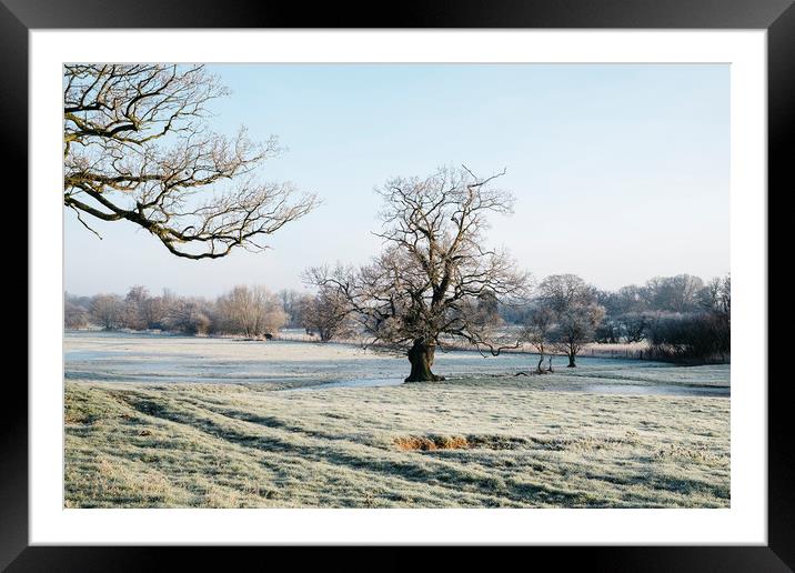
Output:
M318 3L311 8L301 2L270 0L0 0L0 125L10 165L28 164L28 32L53 28L764 29L768 41L768 201L793 189L789 174L789 163L795 160L793 0L457 0ZM16 171L19 181L14 189L28 189L27 172ZM18 237L21 233L27 237L24 230ZM768 293L773 292L768 288ZM28 296L30 306L36 301ZM14 389L10 388L13 381L8 382L4 400L0 402L0 569L147 571L164 566L164 559L177 556L170 553L178 551L182 566L189 566L193 560L201 560L203 565L212 563L208 561L207 547L29 546L28 393L21 384ZM794 449L789 382L786 376L772 382L767 386L766 546L558 546L532 551L553 557L556 566L564 570L584 562L591 569L613 572L793 571L795 472L791 463ZM248 559L252 551L258 549L246 550L243 556ZM232 562L224 559L223 563L229 566Z

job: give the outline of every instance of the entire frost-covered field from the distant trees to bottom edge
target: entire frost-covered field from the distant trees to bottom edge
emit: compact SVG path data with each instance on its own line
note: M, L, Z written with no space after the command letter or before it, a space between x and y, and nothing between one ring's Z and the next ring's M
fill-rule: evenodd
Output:
M725 507L729 368L68 332L70 507ZM352 385L358 384L358 385Z

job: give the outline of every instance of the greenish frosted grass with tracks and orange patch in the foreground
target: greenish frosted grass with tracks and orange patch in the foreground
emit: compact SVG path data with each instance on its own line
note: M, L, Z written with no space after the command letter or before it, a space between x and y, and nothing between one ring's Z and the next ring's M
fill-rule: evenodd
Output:
M634 375L646 383L719 379L708 369L665 370L668 376L663 369L592 375L611 382ZM68 380L64 503L729 505L727 398L555 390L586 374L302 392L256 383Z

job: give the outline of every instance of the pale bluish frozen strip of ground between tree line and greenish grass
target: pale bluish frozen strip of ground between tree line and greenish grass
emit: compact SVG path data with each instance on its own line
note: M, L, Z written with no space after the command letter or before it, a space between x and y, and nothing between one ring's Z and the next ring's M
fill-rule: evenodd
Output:
M454 379L513 376L532 370L536 361L533 354L484 358L477 352L437 352L434 372ZM553 358L556 374L533 376L534 388L728 393L727 365L677 369L658 362L591 356L577 359L577 369L566 369L565 364L565 359ZM102 332L68 332L64 336L67 380L339 388L396 384L407 371L404 356L364 351L353 344Z

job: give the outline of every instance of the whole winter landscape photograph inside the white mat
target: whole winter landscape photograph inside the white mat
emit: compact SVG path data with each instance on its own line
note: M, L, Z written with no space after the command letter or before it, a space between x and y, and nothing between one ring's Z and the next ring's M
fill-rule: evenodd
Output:
M732 507L728 63L62 74L62 509Z

